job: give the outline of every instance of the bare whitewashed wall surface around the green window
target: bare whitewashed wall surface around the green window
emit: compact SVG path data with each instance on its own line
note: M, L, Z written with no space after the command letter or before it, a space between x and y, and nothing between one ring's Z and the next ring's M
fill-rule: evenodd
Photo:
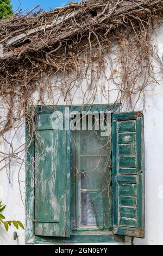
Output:
M154 35L155 36L155 35ZM163 54L163 28L156 30L160 56ZM109 76L109 67L108 67ZM116 95L105 99L99 87L98 97L95 103L114 103ZM115 94L115 93L114 93ZM105 95L106 96L106 95ZM140 99L137 110L141 109L143 99ZM61 97L59 104L63 104ZM83 103L81 94L77 93L74 97L74 104ZM163 82L154 90L146 92L146 111L145 114L145 164L146 164L146 239L135 239L136 245L163 245ZM9 137L11 135L8 135ZM18 139L24 142L24 129L18 133ZM16 138L14 143L19 144ZM16 145L16 146L17 146ZM4 145L0 143L0 151L4 150ZM1 160L0 160L1 161ZM9 184L7 172L0 171L0 199L7 204L4 212L7 220L20 220L24 223L25 211L20 196L20 185L22 198L25 197L25 167L20 169L19 164L13 164L11 170L11 184ZM18 184L20 175L20 184ZM2 189L3 188L3 189ZM2 191L3 190L3 191ZM23 245L24 231L18 230L18 240L13 240L15 228L10 228L6 233L0 227L0 245ZM128 243L127 243L128 244Z

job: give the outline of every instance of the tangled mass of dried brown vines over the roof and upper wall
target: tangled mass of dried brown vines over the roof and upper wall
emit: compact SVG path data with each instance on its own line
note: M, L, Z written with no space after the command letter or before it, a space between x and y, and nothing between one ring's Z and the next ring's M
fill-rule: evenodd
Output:
M80 80L88 75L87 90L80 88L84 103L95 100L102 76L105 82L109 79L115 84L115 102L128 102L128 108L134 108L146 87L158 83L151 57L159 57L151 31L154 24L161 26L162 14L163 0L87 0L48 12L18 13L1 21L0 102L5 114L0 119L0 134L13 126L17 132L22 117L34 123L29 105L45 105L46 93L53 99L57 92L58 101L62 95L65 102L68 97L71 102ZM111 77L106 78L108 63ZM54 74L55 83L51 84ZM37 101L33 98L36 90ZM112 87L104 85L104 91L111 94ZM10 145L5 166L13 157L20 161L18 154L24 149L25 145L20 150Z

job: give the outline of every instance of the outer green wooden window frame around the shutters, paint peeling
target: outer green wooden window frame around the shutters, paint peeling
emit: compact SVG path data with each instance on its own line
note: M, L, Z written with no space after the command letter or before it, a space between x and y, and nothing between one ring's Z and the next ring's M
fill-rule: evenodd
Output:
M52 109L61 110L63 107L70 107L72 111L110 111L111 113L117 113L121 107L121 104L103 104L103 105L58 105L58 106L30 106L32 110L34 108L35 114L41 111L51 111ZM28 147L28 123L26 124L26 143ZM31 166L33 162L34 141L30 144L27 154L26 164L26 230L25 230L25 242L26 244L39 244L39 243L114 243L124 242L124 236L114 235L113 231L85 231L85 230L72 230L70 238L65 237L45 237L36 236L34 233L34 172L31 172Z

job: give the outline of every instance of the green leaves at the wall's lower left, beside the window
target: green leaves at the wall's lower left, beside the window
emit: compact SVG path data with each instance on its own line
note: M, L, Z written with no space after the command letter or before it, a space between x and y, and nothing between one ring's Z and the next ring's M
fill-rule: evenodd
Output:
M6 231L9 230L11 224L13 224L16 229L18 229L19 227L24 229L24 226L20 221L4 221L5 217L2 215L2 212L5 210L6 206L7 205L2 205L2 201L0 202L0 225L3 224Z

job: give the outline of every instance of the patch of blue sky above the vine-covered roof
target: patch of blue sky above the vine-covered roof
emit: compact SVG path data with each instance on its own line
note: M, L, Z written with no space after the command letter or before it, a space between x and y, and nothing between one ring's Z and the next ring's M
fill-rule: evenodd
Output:
M77 0L73 0L74 2L78 2ZM41 9L50 10L55 7L61 7L66 5L70 0L11 0L12 7L14 12L22 9L31 10L37 4L40 5Z

